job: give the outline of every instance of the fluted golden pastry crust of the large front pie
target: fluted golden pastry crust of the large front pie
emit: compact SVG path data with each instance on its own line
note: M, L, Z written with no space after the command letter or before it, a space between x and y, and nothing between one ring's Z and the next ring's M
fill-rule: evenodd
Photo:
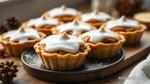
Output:
M86 56L90 51L90 47L87 44L85 44L84 47L84 51L76 54L58 54L57 52L48 53L40 43L36 43L34 49L45 68L51 70L72 70L79 68L84 63Z

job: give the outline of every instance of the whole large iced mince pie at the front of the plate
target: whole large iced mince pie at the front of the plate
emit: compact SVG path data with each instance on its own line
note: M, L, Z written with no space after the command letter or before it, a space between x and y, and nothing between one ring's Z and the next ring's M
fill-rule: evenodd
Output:
M72 70L80 67L90 47L83 40L66 33L50 35L36 43L36 53L42 65L51 70Z

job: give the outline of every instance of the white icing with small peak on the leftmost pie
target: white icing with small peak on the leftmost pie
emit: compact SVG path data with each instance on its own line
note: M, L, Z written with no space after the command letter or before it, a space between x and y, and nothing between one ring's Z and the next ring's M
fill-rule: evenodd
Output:
M5 39L8 39L9 41L19 41L19 43L27 42L28 39L35 39L40 40L39 33L31 28L25 28L25 29L19 29L19 30L12 30L5 34Z

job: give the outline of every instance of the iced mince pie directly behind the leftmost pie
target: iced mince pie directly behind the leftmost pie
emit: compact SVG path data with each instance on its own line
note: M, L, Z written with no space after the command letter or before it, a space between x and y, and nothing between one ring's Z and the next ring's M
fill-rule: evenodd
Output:
M23 23L22 27L32 27L39 32L45 33L46 35L51 35L52 29L60 24L61 22L58 19L40 17Z

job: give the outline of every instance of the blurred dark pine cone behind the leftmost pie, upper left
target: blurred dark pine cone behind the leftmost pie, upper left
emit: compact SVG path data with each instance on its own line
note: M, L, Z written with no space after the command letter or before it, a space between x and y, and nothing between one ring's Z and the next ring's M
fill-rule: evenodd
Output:
M5 25L8 26L9 30L12 30L19 28L20 22L16 17L8 17Z

